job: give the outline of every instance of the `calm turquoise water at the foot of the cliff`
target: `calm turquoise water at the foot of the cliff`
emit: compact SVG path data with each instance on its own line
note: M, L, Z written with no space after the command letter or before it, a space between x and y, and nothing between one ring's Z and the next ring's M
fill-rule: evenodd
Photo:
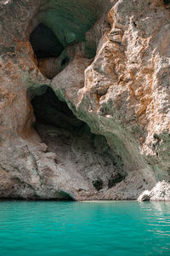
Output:
M170 203L0 201L0 255L170 255Z

